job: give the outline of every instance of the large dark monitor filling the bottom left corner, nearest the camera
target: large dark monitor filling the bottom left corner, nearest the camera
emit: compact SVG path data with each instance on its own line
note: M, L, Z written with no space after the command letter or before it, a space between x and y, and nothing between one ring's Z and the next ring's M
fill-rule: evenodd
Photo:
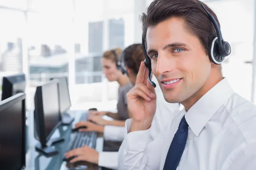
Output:
M26 166L26 117L24 93L0 102L0 170Z

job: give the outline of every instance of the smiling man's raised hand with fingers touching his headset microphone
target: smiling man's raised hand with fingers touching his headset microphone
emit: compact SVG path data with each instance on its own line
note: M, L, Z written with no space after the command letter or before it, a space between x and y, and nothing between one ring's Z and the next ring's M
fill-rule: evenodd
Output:
M148 69L141 62L136 84L127 93L128 110L132 118L131 131L146 130L151 126L156 111L156 93L148 81Z

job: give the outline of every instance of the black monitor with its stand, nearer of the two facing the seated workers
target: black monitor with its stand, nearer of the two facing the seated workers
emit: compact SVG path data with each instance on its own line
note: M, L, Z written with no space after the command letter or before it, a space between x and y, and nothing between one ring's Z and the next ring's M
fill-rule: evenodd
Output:
M46 156L55 155L58 151L47 146L47 142L61 124L58 82L52 80L47 84L38 86L34 100L35 137L40 141L40 144L36 145L36 150ZM55 139L52 144L63 140L62 138Z

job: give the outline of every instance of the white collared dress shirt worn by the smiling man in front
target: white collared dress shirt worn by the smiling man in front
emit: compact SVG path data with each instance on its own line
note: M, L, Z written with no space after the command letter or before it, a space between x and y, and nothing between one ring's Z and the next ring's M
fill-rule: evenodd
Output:
M177 170L256 170L256 106L234 93L224 78L189 111L174 113L161 135L128 133L119 150L119 170L162 170L185 114L188 138ZM126 133L131 119L126 121Z

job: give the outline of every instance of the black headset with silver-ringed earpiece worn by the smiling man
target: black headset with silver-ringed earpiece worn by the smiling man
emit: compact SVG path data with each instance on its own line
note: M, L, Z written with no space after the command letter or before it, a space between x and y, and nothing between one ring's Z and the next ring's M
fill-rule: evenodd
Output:
M204 7L203 4L200 3L200 6L206 11L209 20L213 23L215 30L217 32L217 36L213 37L212 40L209 42L209 51L208 55L210 60L216 64L219 65L221 62L223 62L224 58L230 55L231 53L231 47L230 44L223 40L220 26L218 25L218 22L215 20L215 18L212 16L212 14L207 11L207 9ZM151 59L148 57L145 47L145 41L142 37L142 47L143 47L143 53L145 55L144 63L146 67L148 68L148 80L150 84L155 88L156 84L152 82L151 80Z

